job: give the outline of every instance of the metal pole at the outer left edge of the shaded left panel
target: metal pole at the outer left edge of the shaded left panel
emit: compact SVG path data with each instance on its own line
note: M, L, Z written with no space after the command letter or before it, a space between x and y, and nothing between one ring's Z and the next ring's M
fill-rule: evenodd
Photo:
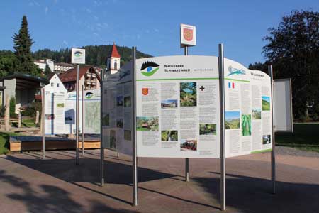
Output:
M103 80L104 80L104 70L101 70L101 82L100 82L100 89L101 89L101 96L100 96L100 183L101 187L104 186L104 147L103 147L103 128L102 128L102 121L103 121Z

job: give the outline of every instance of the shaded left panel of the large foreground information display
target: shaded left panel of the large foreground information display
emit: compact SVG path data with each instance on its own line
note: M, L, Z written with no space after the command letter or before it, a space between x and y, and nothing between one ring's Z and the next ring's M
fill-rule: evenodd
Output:
M132 143L132 62L103 81L103 148L133 155Z

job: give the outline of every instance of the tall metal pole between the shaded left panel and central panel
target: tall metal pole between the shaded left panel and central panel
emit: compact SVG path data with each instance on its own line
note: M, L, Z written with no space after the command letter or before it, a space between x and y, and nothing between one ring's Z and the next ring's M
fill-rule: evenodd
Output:
M137 140L135 134L135 126L136 126L136 47L132 47L132 55L133 55L133 75L132 75L132 94L133 94L133 106L132 106L132 138L133 138L133 205L138 205L138 162L137 162Z

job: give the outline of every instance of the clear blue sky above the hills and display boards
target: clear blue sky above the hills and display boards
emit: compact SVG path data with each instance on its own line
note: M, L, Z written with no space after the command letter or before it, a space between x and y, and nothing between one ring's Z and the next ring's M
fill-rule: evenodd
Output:
M284 1L62 1L0 2L0 49L12 50L13 33L26 14L33 50L111 44L151 55L182 55L179 24L196 26L197 45L190 55L217 55L249 65L264 61L262 38L293 9L319 10L318 0Z

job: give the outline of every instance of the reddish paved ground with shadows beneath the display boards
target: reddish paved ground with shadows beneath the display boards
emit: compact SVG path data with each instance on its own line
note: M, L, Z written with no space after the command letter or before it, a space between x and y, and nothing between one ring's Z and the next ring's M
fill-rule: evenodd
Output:
M132 203L128 156L106 151L106 182L99 187L99 150L86 151L75 165L74 151L2 155L0 212L220 212L219 160L140 158L138 207ZM280 152L272 194L270 153L226 160L225 212L319 212L319 158Z

